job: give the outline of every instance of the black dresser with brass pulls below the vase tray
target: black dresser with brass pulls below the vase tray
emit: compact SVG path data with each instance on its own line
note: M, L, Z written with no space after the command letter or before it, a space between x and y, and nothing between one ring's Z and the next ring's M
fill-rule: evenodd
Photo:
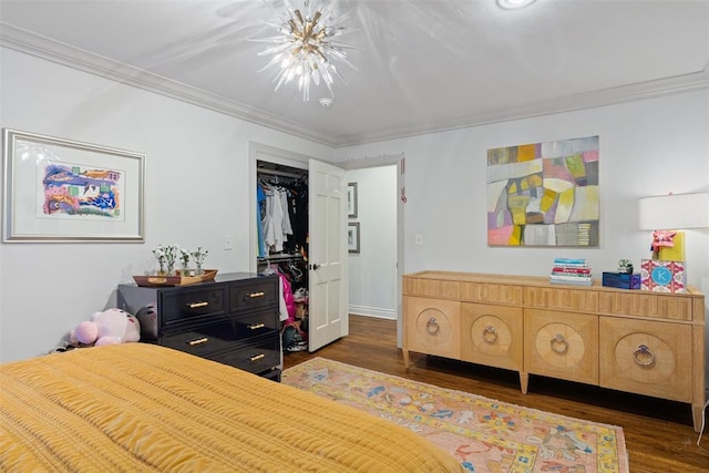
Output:
M137 316L141 341L280 381L278 276L217 275L176 287L120 285L119 307Z

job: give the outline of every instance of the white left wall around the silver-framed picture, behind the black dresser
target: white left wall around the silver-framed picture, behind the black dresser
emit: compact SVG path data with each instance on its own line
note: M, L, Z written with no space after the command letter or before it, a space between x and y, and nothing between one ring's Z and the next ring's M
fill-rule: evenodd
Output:
M145 244L0 245L0 360L52 349L115 289L154 267L151 249L209 249L247 271L248 142L328 161L332 150L162 95L0 49L0 125L146 153ZM224 250L232 235L233 250Z

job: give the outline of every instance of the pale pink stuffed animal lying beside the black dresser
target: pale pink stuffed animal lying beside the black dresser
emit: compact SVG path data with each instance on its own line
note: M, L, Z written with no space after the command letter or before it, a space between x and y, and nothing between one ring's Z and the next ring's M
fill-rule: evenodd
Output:
M141 339L141 326L137 319L121 309L107 309L94 312L91 321L83 321L69 335L72 345L119 345Z

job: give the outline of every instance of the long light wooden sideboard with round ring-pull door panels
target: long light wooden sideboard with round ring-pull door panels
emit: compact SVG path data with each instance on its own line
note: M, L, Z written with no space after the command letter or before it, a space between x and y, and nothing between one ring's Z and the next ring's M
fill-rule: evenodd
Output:
M403 277L403 361L434 354L530 374L705 403L705 296L544 277L422 271Z

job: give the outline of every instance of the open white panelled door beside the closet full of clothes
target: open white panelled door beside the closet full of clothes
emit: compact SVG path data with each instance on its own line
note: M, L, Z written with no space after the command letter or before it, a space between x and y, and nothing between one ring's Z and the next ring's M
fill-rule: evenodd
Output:
M310 160L308 174L308 349L349 332L345 169Z

